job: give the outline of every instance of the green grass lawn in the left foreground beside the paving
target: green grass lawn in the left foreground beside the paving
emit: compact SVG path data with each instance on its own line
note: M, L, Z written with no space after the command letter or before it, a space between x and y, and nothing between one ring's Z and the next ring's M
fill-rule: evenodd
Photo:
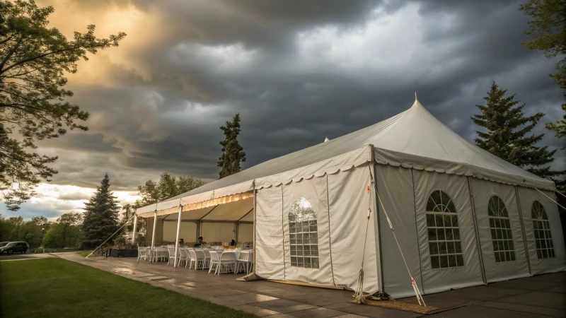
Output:
M255 317L64 259L0 262L0 317Z

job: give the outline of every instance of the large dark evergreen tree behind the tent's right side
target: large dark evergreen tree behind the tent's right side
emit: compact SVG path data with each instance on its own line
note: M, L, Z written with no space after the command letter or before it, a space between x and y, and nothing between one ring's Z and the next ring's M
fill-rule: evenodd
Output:
M494 81L484 98L486 104L477 105L481 113L475 114L472 120L487 131L476 131L478 138L475 143L517 167L556 181L555 177L565 173L550 170L548 166L553 162L556 150L549 151L548 146L536 146L544 134L527 135L545 114L538 112L525 117L525 104L518 106L520 101L515 100L515 95L506 96L506 93L507 90L497 86Z

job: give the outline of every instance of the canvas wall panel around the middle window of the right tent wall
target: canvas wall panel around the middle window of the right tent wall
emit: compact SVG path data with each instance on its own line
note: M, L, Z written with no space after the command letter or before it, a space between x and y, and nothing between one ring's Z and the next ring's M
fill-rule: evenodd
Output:
M523 228L521 227L515 188L507 184L498 184L474 178L470 179L470 184L487 283L529 276L529 264L525 254ZM494 196L497 196L501 201L495 199ZM502 212L505 209L509 218L492 218L492 223L490 224L490 215L488 213L490 201L493 202L498 211ZM511 231L513 242L511 251L514 254L514 261L509 261L508 255L505 252L498 252L498 257L501 253L505 254L504 259L499 259L498 261L495 259L494 242L495 245L500 245L505 240L508 240L507 234L503 233L503 230L497 230L498 228L507 228L507 225L497 225L493 223L495 220L503 220L504 223L509 222L509 230ZM495 240L492 237L492 230L495 231ZM500 237L504 237L505 240L502 240ZM497 246L497 250L499 251L499 246ZM504 246L504 250L509 250L509 248Z

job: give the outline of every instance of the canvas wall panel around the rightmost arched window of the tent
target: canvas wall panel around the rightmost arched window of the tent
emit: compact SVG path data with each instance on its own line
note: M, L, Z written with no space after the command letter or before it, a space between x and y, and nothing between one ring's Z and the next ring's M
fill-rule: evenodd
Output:
M562 227L560 226L558 206L546 196L536 191L536 189L517 187L517 192L519 193L519 204L521 205L521 212L523 214L526 242L529 247L531 274L538 275L541 273L566 270L566 252L562 238L563 233ZM551 198L556 197L552 192L545 192L545 194ZM546 215L548 216L555 257L539 259L537 256L535 230L532 218L532 206L534 201L538 201L543 205Z

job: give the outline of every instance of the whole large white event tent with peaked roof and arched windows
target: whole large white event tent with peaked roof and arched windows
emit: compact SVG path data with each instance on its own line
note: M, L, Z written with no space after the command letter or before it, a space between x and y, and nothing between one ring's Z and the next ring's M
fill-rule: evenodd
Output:
M147 218L151 245L198 235L253 241L256 278L403 298L564 271L555 191L415 100L137 217Z

